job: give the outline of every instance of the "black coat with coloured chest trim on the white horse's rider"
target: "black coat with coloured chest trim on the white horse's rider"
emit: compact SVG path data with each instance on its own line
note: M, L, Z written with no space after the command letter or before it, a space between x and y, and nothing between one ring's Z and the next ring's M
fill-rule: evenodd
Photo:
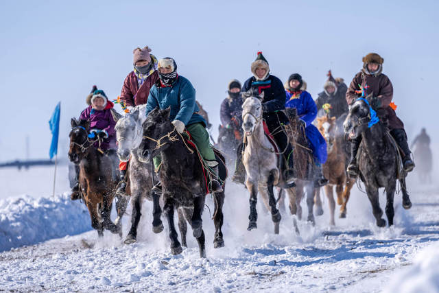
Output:
M281 110L285 109L285 89L281 80L274 75L268 75L265 80L256 80L254 76L244 82L241 91L250 91L250 89L257 91L257 93L264 93L262 104L267 108L263 113L263 119L270 126L276 126L280 123L289 124L288 118Z

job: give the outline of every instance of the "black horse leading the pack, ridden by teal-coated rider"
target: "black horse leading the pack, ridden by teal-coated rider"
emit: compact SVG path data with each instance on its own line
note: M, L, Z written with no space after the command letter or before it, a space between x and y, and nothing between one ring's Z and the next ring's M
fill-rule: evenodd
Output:
M154 156L161 155L163 209L169 224L171 253L174 255L182 253L174 226L174 208L182 207L185 218L191 224L193 236L197 239L200 257L206 257L201 218L204 199L208 191L204 176L205 170L198 154L189 148L183 135L178 133L169 121L170 111L171 108L165 110L155 108L143 122L143 139L138 151L139 160L149 163ZM225 167L220 163L219 172L226 172L221 166ZM222 180L225 180L225 176ZM215 203L213 244L215 248L219 248L224 246L222 235L224 191L213 194L213 199Z

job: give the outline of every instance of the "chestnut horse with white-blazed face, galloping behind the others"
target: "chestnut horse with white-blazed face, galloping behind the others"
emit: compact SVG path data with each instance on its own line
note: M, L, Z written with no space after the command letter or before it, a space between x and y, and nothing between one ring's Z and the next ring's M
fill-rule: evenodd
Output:
M317 118L317 128L327 141L328 159L323 165L323 174L329 182L324 186L324 191L329 200L331 225L335 225L333 187L335 186L335 192L337 193L337 204L341 205L340 218L346 218L346 204L355 180L348 178L346 174L346 154L342 149L344 136L338 135L335 117L325 115ZM320 189L317 189L316 192L320 193Z

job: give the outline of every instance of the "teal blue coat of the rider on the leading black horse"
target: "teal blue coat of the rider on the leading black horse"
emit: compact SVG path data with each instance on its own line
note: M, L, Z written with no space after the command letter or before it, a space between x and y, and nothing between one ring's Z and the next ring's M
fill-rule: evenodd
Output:
M185 125L201 122L206 126L206 120L198 114L199 108L195 103L195 89L187 78L178 75L172 86L161 87L158 80L150 91L146 103L146 115L154 108L166 109L171 106L169 119L180 120Z

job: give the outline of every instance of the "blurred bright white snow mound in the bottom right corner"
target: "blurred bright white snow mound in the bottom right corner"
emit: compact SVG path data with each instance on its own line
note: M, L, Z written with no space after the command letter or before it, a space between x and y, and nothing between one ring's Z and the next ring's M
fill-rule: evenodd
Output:
M414 265L396 274L384 292L439 292L439 243L421 250Z

